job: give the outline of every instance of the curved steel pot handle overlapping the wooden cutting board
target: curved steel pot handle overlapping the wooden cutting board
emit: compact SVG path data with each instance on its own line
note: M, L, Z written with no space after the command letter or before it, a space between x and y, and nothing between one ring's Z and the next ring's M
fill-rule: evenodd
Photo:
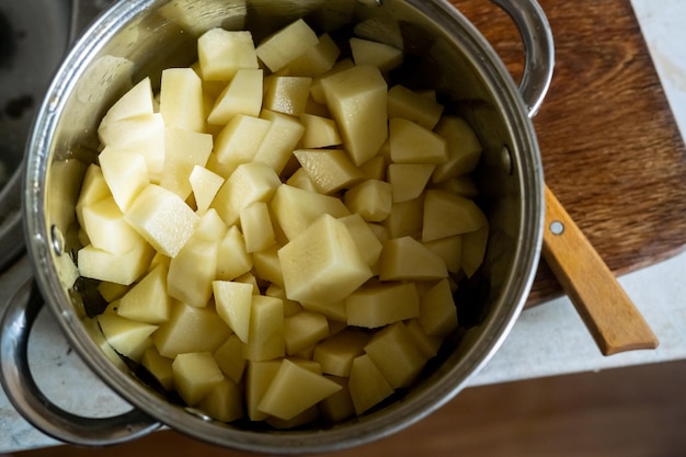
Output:
M554 68L554 43L548 18L536 0L491 0L513 20L524 43L524 75L519 93L534 117L550 88Z

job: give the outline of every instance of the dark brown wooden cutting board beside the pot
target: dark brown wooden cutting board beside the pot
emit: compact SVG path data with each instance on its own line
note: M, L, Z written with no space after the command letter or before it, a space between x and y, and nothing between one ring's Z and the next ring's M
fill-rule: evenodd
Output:
M484 0L451 0L518 80L523 48ZM556 42L534 119L548 186L621 275L686 245L686 149L629 0L539 0ZM542 264L527 305L562 294Z

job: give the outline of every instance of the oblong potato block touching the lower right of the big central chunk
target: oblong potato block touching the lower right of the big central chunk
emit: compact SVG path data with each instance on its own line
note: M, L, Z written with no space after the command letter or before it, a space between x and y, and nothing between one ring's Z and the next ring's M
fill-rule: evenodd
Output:
M420 297L414 283L364 286L345 297L347 324L376 329L420 317Z

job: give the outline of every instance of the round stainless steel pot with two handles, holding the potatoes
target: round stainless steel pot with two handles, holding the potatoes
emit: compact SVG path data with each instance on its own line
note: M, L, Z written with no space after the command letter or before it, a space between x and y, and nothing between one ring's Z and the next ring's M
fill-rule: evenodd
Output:
M129 0L111 7L66 58L28 142L23 216L35 286L25 284L14 295L0 342L2 382L16 410L46 434L81 445L119 443L163 423L220 446L302 454L381 438L457 395L514 324L541 247L542 170L529 116L550 82L552 38L535 0L493 2L514 19L525 43L519 88L482 35L442 0ZM196 58L195 38L208 27L248 27L259 39L300 16L320 30L352 24L364 37L402 44L409 60L415 61L403 82L437 89L448 110L471 123L484 145L478 180L491 237L477 279L458 288L472 302L460 309L460 331L407 393L335 426L274 432L215 422L173 404L101 350L99 333L81 320L91 296L87 282L75 282L75 201L85 165L95 160L98 122L132 83L148 75L159 81L161 69L190 65ZM44 302L88 366L134 407L130 412L79 418L39 392L26 362L26 343Z

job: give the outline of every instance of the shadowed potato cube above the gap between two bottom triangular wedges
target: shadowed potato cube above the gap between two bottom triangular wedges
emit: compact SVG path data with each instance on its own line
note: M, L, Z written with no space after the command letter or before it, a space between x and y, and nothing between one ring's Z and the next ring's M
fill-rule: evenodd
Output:
M323 373L334 376L350 376L355 357L364 354L369 342L369 333L346 327L315 347L312 359L321 365Z

